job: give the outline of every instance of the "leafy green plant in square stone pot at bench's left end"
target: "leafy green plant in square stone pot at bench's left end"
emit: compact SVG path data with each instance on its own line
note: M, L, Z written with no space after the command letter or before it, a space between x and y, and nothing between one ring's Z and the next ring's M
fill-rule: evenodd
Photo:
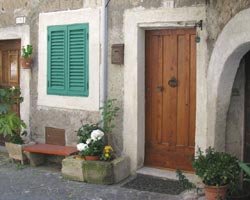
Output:
M5 137L5 146L9 157L20 160L22 163L25 156L22 152L23 140L20 132L26 128L25 123L20 117L11 110L14 104L23 101L19 88L0 89L0 134ZM27 134L26 131L22 135Z

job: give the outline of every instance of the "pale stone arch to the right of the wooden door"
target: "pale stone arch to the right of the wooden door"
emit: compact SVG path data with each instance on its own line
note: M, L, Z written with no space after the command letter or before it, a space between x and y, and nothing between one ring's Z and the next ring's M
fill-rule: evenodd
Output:
M250 49L250 9L233 17L219 35L208 68L207 146L225 150L226 117L241 58Z

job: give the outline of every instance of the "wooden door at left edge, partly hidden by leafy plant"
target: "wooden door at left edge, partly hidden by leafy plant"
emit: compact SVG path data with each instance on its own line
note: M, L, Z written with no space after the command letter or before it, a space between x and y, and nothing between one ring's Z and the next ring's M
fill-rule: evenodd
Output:
M0 88L19 87L20 40L0 40ZM11 108L19 115L19 104ZM0 137L0 145L4 144Z

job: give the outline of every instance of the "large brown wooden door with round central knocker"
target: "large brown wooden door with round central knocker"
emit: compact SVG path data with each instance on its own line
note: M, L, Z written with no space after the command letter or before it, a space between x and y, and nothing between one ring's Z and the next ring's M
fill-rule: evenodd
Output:
M146 31L145 165L192 171L195 29Z

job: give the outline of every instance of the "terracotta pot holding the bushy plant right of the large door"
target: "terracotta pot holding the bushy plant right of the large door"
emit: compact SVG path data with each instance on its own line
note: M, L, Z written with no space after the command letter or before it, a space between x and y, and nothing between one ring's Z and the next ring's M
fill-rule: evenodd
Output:
M225 200L227 193L227 185L224 186L209 186L205 185L206 200Z

